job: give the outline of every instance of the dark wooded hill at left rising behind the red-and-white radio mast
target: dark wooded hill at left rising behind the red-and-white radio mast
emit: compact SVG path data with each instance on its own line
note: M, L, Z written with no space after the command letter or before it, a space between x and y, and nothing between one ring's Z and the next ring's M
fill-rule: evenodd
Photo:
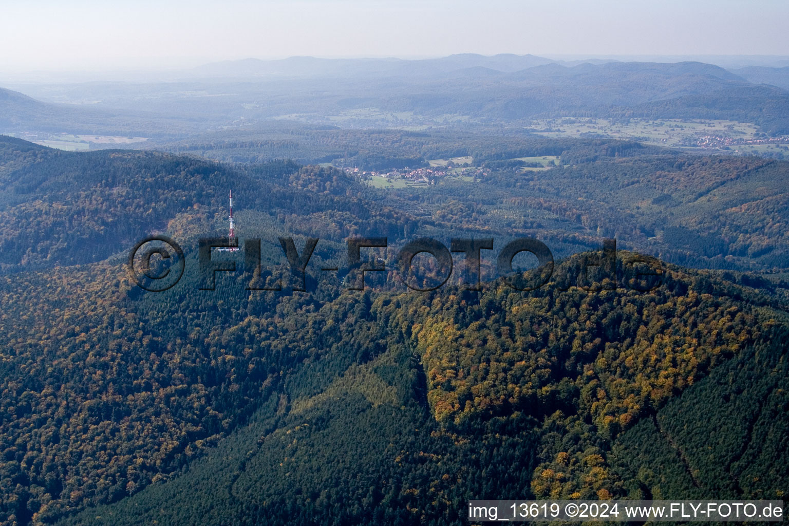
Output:
M62 152L2 137L0 268L99 261L166 230L179 214L208 235L226 215L230 190L261 211L300 203L316 213L361 210L357 192L346 196L353 185L345 173L290 161L241 168L159 152Z

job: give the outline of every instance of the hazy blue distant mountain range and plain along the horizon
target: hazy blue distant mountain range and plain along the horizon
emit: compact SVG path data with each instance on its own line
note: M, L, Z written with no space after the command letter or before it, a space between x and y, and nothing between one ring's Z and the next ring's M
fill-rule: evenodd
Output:
M589 116L735 120L770 134L789 133L789 92L782 88L789 80L781 80L787 74L739 73L704 62L562 64L513 54L248 58L200 66L178 82L58 88L55 99L71 106L7 92L0 99L0 132L182 137L272 119L380 129L445 126L458 118L463 125L519 126ZM32 95L52 99L55 92ZM92 104L76 104L84 100Z

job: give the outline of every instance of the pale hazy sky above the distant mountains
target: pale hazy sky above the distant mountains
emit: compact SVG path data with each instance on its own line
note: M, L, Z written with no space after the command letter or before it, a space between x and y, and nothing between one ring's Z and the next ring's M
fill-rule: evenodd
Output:
M789 54L787 0L0 0L0 70L234 58Z

